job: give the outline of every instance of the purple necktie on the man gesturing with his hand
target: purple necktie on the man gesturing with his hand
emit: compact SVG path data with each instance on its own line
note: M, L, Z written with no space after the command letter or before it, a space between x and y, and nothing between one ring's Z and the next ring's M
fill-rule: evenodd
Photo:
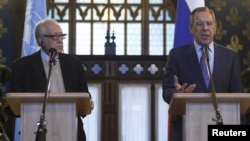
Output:
M209 79L209 74L208 74L208 67L206 65L206 56L202 48L201 48L201 52L202 52L202 55L200 58L201 71L202 71L202 75L203 75L206 87L208 88L210 79Z

